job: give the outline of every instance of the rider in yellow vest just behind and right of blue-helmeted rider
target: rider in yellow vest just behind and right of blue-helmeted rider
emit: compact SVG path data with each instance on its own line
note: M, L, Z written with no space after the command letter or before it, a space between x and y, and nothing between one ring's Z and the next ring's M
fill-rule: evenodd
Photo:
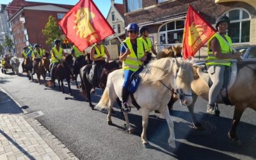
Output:
M144 61L144 65L147 65L147 63L152 59L152 53L154 53L155 56L157 55L157 52L154 49L154 46L152 45L150 38L148 38L148 33L149 31L147 27L142 26L140 28L140 40L142 40L147 54L147 60Z

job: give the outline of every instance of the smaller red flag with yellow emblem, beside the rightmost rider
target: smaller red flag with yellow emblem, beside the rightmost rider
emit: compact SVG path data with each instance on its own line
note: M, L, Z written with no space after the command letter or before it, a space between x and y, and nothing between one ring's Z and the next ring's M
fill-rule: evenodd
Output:
M189 5L183 33L183 58L193 57L215 32L211 24Z

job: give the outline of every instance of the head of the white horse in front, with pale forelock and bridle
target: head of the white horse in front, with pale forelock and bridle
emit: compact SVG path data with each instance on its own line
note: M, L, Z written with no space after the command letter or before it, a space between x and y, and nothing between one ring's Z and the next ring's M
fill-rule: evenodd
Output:
M191 64L181 58L173 58L173 77L170 81L173 89L176 90L177 97L184 106L189 106L193 102L191 82L193 81L194 71Z

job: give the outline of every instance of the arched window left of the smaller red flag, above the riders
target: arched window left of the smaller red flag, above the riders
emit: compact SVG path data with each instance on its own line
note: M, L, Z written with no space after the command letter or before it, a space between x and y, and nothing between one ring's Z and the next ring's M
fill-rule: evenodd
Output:
M184 20L164 24L159 30L160 45L182 43Z

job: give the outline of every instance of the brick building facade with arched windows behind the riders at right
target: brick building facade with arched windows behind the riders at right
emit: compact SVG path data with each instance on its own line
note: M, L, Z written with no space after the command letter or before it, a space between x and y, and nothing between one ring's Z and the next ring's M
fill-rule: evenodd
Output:
M228 35L234 45L256 44L256 3L230 0L124 0L125 25L136 22L150 29L150 38L160 51L182 43L184 20L191 4L215 28L221 15L230 18Z

